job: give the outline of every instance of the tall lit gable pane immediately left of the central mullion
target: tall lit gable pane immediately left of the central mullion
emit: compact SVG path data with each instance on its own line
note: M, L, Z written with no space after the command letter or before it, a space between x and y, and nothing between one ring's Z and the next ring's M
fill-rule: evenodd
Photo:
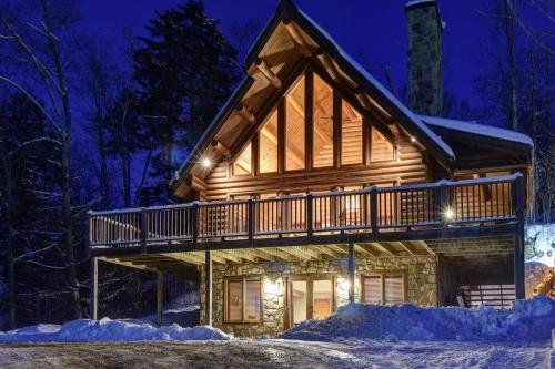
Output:
M285 98L285 171L304 170L304 75Z

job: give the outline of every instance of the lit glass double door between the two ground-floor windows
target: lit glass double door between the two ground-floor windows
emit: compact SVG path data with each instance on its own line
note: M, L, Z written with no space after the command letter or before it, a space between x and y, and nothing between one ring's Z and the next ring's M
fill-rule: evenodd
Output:
M307 319L324 319L333 312L331 278L295 277L287 287L289 327Z

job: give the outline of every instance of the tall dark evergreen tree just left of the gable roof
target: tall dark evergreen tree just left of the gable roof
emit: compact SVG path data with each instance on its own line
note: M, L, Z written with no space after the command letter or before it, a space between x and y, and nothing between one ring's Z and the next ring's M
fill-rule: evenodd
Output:
M134 78L141 86L141 109L148 135L160 150L153 154L143 204L168 202L168 183L183 155L228 99L239 79L236 51L204 13L201 1L158 13L134 52Z

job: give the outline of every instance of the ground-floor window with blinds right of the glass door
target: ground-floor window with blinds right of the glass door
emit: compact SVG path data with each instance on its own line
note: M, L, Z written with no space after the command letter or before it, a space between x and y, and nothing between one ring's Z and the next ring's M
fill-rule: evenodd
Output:
M362 277L362 300L365 304L403 304L405 276L403 273L384 273Z

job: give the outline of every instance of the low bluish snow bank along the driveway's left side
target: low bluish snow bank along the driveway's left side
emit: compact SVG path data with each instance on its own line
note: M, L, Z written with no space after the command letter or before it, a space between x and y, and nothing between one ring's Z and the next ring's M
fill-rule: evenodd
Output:
M153 327L128 321L78 319L63 326L38 325L0 332L1 342L29 341L137 341L137 340L228 340L231 337L219 329L199 326L181 328L178 325Z

